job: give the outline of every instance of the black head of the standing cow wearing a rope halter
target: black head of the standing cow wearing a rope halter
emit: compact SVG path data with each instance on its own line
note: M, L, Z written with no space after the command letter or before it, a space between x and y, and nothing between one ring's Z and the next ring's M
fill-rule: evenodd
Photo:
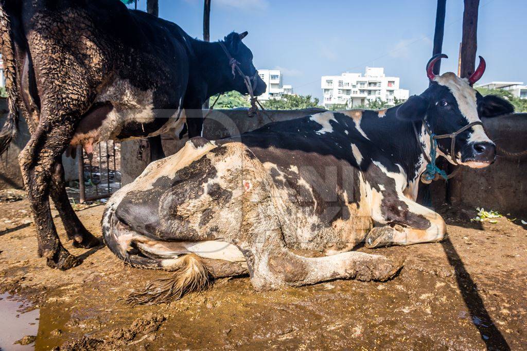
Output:
M227 73L227 79L230 79L231 87L233 90L236 90L242 94L249 94L247 85L244 82L245 76L249 77L251 86L253 89L253 94L259 96L264 94L266 91L267 85L262 81L258 75L258 71L255 66L252 64L252 52L250 49L243 44L242 39L247 36L248 32L243 32L241 34L232 32L225 37L225 47L229 52L230 56L236 60L236 65L240 68L240 74L235 67L230 66ZM232 63L230 63L232 64Z

